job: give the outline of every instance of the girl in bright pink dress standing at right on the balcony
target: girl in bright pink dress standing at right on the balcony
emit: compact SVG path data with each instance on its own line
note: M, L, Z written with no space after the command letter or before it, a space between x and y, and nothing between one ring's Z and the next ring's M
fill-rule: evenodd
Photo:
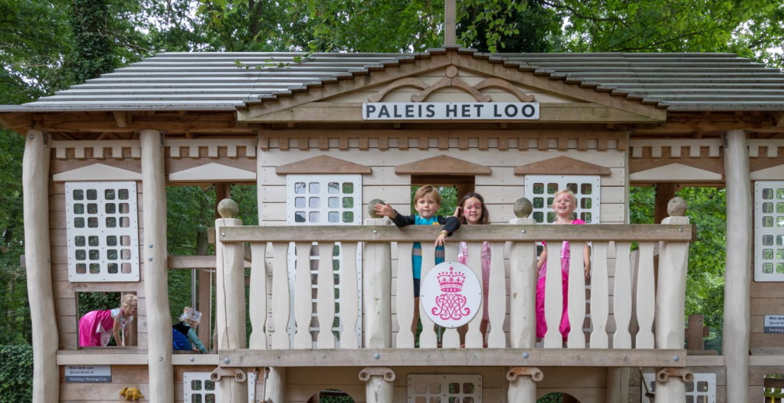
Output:
M556 224L573 224L582 225L585 223L583 220L575 220L572 218L572 212L577 208L577 198L572 191L563 190L558 191L553 199L553 205L550 206L555 210ZM536 269L539 270L539 279L536 281L536 337L543 338L547 332L547 325L544 318L544 285L547 275L547 245L542 242L544 249L542 254L539 255L539 260L536 262ZM561 331L561 336L566 339L571 327L569 326L568 315L568 285L569 285L569 260L572 252L569 250L569 241L564 241L561 245L561 290L564 295L564 307L561 313L561 325L558 329ZM583 262L585 269L585 276L588 278L590 271L590 249L586 245L583 250Z

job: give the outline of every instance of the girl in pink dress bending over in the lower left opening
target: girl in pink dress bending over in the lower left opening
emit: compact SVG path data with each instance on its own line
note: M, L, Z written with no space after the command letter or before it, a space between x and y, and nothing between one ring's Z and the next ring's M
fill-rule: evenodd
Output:
M89 311L79 319L79 346L106 347L114 335L114 342L124 347L125 339L120 339L120 332L135 315L136 296L132 294L122 298L119 308Z

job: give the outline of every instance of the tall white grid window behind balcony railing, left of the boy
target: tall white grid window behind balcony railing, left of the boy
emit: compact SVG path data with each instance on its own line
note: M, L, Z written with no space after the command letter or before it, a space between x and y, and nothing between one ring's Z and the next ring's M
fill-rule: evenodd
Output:
M286 216L289 225L359 225L362 220L362 176L361 175L289 175L286 176ZM318 336L318 312L316 301L318 297L318 248L316 243L310 250L310 286L313 289L310 333L314 340ZM343 332L341 320L340 296L341 278L343 275L343 260L356 259L358 278L358 318L361 318L361 247L357 248L356 256L343 256L340 242L332 248L332 270L335 281L335 319L332 323L332 334L335 336L336 347L340 346L340 333ZM294 274L296 272L296 252L294 245L289 246L289 289L294 289ZM289 339L293 343L296 332L294 318L294 293L290 294L289 305ZM356 332L361 343L361 320L356 325Z

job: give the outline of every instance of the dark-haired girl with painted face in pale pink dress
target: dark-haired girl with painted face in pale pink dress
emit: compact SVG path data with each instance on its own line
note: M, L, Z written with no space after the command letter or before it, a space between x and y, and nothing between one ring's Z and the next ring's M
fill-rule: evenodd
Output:
M485 206L485 198L481 194L469 192L462 199L455 212L457 218L460 220L461 225L477 225L490 223L490 212ZM468 245L466 242L460 242L457 260L460 263L466 264L468 261ZM482 333L482 339L488 329L488 288L490 284L490 242L482 242L482 300L484 309L482 310L482 320L479 325L479 330ZM461 333L465 333L466 329Z

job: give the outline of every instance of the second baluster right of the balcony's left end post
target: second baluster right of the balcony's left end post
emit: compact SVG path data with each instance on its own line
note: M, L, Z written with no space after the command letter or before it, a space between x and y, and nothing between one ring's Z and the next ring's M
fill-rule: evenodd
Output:
M289 346L289 242L272 244L272 348L287 349Z

